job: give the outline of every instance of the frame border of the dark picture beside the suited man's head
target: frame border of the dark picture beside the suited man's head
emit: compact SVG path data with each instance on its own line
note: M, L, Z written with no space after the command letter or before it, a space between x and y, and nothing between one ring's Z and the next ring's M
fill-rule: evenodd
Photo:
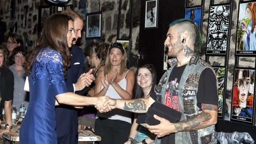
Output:
M99 33L98 33L98 36L88 36L88 28L89 28L89 25L88 25L88 18L92 15L99 15L100 16L100 27L99 27ZM90 12L90 13L87 13L86 15L86 34L85 34L85 38L86 39L101 39L101 36L102 36L102 11L97 11L97 12Z

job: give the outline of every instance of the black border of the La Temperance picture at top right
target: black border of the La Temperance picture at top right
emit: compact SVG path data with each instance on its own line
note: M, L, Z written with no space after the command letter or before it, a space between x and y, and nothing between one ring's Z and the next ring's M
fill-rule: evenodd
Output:
M250 57L250 56L256 56L256 50L237 50L238 48L238 23L239 23L239 11L240 5L245 4L245 3L250 3L250 2L256 2L255 0L252 1L239 1L238 3L238 18L236 21L236 41L235 41L235 56L244 56L244 57Z

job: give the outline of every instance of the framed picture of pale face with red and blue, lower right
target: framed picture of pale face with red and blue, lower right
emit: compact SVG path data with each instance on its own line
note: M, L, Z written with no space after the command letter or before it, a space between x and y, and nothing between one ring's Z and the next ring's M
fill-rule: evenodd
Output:
M231 120L251 123L254 120L255 69L235 68Z

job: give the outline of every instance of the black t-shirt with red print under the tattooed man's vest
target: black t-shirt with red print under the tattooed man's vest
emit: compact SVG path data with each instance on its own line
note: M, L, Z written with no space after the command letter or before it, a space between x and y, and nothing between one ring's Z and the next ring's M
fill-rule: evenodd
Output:
M172 107L175 110L180 110L178 105L178 92L176 91L178 88L178 84L181 79L181 75L185 69L185 66L174 67L169 76L168 84L167 84L167 92L165 92L165 105L168 107ZM201 104L213 104L217 105L218 97L217 97L217 85L215 73L210 68L204 69L199 78L199 89L197 91L197 106L201 108ZM169 97L172 95L172 97ZM156 99L155 91L152 91L151 97L153 100ZM171 135L165 136L161 138L161 143L172 144L175 143L175 133L171 133Z

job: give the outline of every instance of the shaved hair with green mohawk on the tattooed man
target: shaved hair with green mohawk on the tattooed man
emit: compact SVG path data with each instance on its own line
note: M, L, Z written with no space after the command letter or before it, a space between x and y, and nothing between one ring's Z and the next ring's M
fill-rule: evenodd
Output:
M201 47L203 45L203 39L201 37L201 33L199 31L199 27L197 26L197 24L190 19L181 18L181 19L172 21L172 23L169 24L169 27L172 27L176 24L178 25L178 27L182 27L182 28L178 28L178 30L180 31L188 30L190 34L192 34L192 38L194 37L194 52L200 53ZM183 27L184 25L187 25L187 24L191 25L191 27Z

